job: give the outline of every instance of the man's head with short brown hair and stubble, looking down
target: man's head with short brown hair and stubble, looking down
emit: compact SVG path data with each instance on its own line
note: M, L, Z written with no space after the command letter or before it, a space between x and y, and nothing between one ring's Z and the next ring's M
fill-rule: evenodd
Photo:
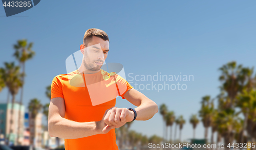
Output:
M82 64L86 70L97 71L103 65L109 52L109 36L99 29L88 29L80 45Z

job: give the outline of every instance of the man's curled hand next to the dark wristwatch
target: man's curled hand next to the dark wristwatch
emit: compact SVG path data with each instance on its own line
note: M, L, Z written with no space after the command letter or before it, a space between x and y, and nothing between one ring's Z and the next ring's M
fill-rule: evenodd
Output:
M102 120L99 122L101 133L108 133L111 129L122 127L126 122L132 121L134 112L127 108L112 107L105 111Z

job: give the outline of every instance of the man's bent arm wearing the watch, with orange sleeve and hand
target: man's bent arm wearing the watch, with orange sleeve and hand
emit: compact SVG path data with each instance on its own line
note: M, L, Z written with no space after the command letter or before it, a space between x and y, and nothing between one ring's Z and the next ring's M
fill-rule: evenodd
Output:
M135 108L137 113L135 120L151 119L158 112L157 104L141 92L134 89L125 79L116 74L115 81L117 84L118 95L137 106L137 108ZM134 112L127 108L112 107L107 110L107 113L104 116L104 122L108 126L119 128L126 122L132 121L134 116Z

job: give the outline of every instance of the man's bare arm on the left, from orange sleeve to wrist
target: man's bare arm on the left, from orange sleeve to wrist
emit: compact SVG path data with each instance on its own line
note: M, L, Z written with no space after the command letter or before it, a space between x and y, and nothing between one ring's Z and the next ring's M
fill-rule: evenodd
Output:
M103 119L97 122L76 122L64 117L64 99L62 97L52 98L48 115L48 132L51 137L59 137L64 139L82 138L102 134L102 129L106 126ZM104 133L107 133L110 130L111 129L109 128L108 131L105 131Z

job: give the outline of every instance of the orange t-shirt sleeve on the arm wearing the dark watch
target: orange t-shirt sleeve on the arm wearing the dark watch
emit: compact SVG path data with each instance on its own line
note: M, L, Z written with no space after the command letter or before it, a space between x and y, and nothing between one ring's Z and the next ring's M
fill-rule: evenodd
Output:
M117 90L118 90L118 95L121 96L123 99L123 95L132 89L133 87L129 82L127 82L125 79L123 79L121 76L118 74L115 75L116 78L116 84L117 84Z

